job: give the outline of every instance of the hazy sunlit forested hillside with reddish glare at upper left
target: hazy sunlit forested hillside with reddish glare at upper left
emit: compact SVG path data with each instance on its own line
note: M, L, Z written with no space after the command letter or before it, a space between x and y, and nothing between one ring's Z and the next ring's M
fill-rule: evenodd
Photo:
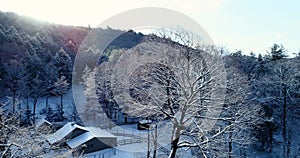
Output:
M74 56L88 31L84 27L50 24L15 13L0 12L1 57L3 60L22 56L26 50L54 54L60 48Z

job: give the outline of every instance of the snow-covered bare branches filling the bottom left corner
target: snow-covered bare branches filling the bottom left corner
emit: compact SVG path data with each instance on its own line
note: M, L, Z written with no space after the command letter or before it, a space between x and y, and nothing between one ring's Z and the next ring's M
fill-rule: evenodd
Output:
M1 114L0 109L0 114ZM73 150L50 146L34 126L20 127L17 115L1 115L0 157L70 157Z

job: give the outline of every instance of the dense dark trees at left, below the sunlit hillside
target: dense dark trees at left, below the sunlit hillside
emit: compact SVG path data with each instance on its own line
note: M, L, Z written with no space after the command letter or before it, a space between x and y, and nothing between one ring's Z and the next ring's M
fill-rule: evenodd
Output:
M63 50L59 50L50 60L42 59L36 53L27 52L24 59L10 60L4 69L3 78L5 92L12 108L9 113L25 112L23 123L35 121L38 100L46 97L46 110L49 110L48 97L60 96L66 93L71 83L72 61ZM32 105L29 105L32 99ZM22 107L21 101L25 101ZM63 102L60 104L60 116L62 116ZM16 110L18 109L18 110ZM31 118L31 119L30 119Z

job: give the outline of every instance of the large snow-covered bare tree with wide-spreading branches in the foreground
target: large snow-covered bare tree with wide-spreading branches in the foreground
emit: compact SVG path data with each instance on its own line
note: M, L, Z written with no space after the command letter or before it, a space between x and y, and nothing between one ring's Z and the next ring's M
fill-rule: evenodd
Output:
M189 33L171 37L178 43L154 37L121 53L112 70L114 98L131 116L171 121L170 158L190 147L202 157L231 157L233 143L251 142L247 130L258 121L259 107L244 104L247 83L226 76L216 47L197 47Z

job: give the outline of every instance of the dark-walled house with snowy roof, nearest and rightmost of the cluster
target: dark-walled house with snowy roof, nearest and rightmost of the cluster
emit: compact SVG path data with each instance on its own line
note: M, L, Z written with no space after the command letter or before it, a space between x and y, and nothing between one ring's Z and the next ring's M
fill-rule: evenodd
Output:
M71 149L84 145L84 153L90 153L117 146L117 137L111 133L97 127L85 128L87 132L66 142Z

